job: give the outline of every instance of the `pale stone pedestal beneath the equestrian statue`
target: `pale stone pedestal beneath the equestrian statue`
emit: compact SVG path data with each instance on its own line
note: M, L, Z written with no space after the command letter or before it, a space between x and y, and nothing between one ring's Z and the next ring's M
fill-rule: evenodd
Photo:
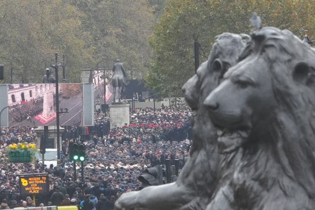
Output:
M129 125L129 107L128 103L113 102L109 105L109 116L110 116L110 129L115 127L123 127L125 123Z

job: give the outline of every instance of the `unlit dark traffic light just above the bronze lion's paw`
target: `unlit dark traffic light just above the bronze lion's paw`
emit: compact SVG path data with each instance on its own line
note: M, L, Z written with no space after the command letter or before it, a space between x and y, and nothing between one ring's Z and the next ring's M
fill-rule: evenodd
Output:
M163 169L161 166L155 166L144 170L144 173L138 177L142 186L163 184Z

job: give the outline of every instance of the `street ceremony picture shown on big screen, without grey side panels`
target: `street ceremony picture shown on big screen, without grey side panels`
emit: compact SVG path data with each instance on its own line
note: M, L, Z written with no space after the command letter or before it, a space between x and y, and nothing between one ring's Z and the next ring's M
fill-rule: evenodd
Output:
M60 126L83 125L82 84L63 83L58 87ZM56 125L56 85L8 85L8 106L9 126Z

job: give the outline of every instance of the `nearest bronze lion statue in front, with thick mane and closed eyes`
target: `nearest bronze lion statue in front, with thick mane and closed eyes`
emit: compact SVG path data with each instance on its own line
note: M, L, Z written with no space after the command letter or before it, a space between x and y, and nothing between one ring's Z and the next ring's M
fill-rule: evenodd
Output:
M207 210L315 210L315 52L288 30L251 37L204 101L232 161Z

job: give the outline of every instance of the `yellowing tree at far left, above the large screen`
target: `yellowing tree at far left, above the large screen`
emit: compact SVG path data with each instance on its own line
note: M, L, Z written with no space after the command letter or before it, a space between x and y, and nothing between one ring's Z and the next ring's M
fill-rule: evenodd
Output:
M39 83L54 54L66 56L67 79L80 82L81 66L91 62L89 32L81 27L82 14L62 0L2 0L0 4L0 61L4 83ZM61 71L60 71L60 75ZM60 76L60 78L62 78Z

